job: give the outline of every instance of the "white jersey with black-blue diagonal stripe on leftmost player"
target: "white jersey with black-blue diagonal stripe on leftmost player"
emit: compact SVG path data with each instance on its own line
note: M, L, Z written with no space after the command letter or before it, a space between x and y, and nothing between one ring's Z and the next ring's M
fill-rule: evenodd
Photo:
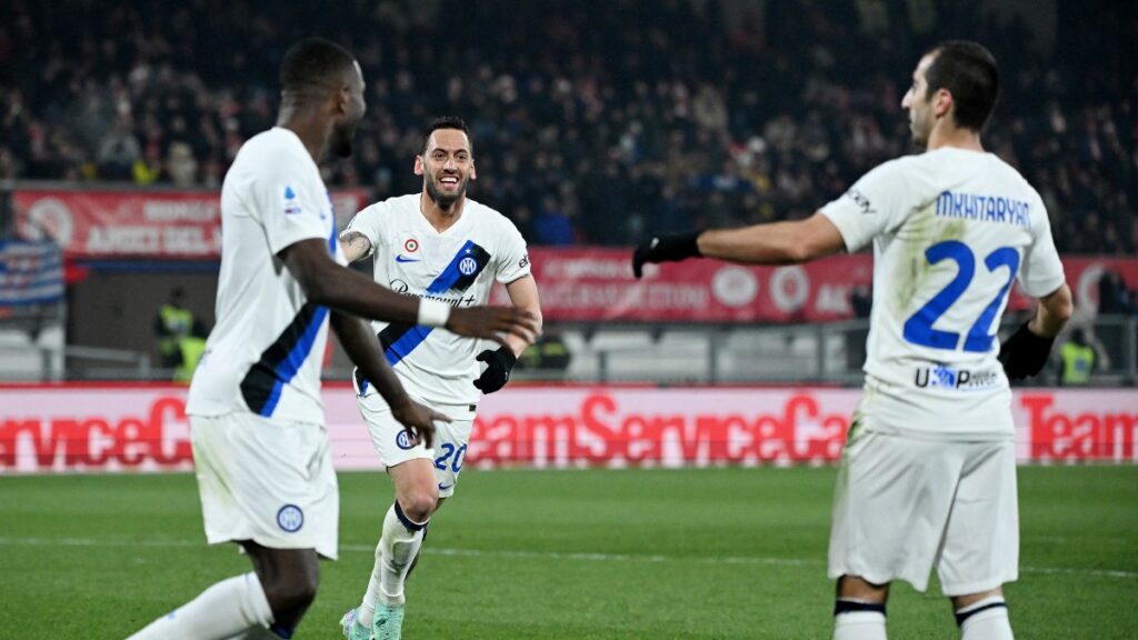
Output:
M187 413L251 411L324 420L320 369L328 309L305 300L277 254L319 238L344 263L320 170L300 139L274 128L237 154L221 190L217 325L190 384Z

